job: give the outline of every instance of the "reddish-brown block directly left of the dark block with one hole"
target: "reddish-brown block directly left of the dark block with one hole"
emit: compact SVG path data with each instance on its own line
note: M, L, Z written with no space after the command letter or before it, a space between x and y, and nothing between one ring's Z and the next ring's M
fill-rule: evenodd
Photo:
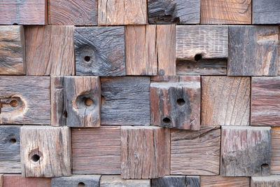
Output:
M73 26L25 27L27 75L75 74Z

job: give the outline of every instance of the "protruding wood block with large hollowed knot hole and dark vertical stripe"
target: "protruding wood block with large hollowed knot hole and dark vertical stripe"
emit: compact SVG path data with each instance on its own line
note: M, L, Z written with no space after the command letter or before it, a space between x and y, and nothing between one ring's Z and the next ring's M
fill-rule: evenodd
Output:
M52 126L99 127L101 86L97 76L52 76Z

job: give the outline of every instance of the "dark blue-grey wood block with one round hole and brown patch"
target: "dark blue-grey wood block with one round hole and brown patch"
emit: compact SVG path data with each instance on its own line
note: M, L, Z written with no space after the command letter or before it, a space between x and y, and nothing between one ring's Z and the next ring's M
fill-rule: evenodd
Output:
M75 27L76 74L125 76L124 27Z

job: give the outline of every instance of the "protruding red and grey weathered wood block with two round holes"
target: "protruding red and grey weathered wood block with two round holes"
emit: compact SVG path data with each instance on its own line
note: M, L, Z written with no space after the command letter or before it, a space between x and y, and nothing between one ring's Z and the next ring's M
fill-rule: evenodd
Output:
M200 76L179 78L151 83L151 125L200 130Z

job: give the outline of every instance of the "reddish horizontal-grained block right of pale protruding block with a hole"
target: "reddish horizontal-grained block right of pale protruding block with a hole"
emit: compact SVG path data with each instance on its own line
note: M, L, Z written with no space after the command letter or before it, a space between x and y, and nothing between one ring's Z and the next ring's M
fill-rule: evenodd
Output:
M73 174L120 174L120 127L72 129Z

